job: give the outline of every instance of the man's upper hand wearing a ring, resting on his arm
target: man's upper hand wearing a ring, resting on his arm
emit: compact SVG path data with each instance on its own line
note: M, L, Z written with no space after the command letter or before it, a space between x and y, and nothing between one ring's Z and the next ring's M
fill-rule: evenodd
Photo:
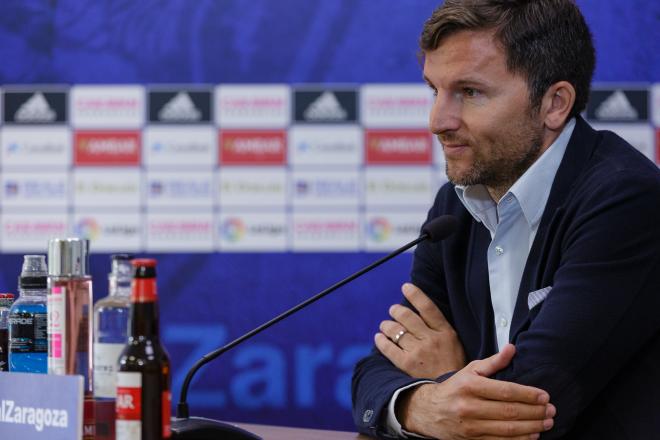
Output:
M416 378L435 379L463 368L463 345L440 309L413 284L406 283L401 290L419 315L399 304L390 307L394 320L380 323L381 332L374 338L378 350L398 369Z

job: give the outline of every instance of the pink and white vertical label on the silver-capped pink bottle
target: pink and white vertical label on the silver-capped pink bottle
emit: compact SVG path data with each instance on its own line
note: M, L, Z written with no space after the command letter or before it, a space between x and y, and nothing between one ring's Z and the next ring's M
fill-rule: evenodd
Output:
M54 286L48 295L48 374L66 374L66 288Z

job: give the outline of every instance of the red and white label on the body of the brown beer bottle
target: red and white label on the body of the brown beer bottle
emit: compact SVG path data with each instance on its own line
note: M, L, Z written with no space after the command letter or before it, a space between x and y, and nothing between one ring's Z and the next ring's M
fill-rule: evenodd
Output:
M116 440L142 438L142 374L120 371L117 373Z

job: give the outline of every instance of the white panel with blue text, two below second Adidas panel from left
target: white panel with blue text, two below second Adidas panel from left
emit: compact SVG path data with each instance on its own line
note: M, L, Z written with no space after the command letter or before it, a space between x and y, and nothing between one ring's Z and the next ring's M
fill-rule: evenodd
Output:
M213 205L213 173L149 171L145 194L149 208L199 206L210 209Z

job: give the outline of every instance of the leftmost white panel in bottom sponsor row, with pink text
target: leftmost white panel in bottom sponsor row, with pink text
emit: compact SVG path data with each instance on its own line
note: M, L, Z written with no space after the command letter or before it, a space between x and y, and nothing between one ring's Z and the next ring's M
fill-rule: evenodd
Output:
M45 253L48 240L69 235L67 213L3 214L0 246L3 252Z

